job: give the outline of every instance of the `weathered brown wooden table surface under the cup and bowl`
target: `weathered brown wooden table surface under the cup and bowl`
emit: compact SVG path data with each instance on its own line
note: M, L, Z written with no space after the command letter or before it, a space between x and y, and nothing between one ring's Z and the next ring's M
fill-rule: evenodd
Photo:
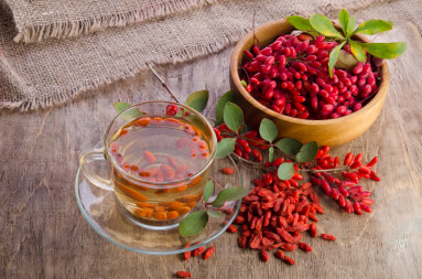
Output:
M224 234L216 256L182 261L180 256L145 256L97 235L79 213L74 194L80 154L97 143L113 117L112 103L169 99L150 73L119 82L54 108L0 112L0 278L421 278L422 277L422 39L410 23L377 41L407 41L408 51L389 62L391 84L376 124L335 154L378 154L379 183L372 213L357 216L323 197L320 230L337 242L306 242L314 250L290 253L288 266L267 264L256 250L240 249ZM212 107L229 88L232 47L182 65L156 67L184 99L208 89ZM253 172L245 182L250 185Z

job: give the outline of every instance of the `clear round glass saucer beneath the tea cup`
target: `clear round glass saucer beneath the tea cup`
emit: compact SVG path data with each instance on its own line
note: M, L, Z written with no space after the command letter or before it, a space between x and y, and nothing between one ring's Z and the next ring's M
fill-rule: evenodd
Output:
M235 174L223 174L219 170L230 167ZM108 165L104 163L107 172ZM214 194L218 194L228 186L241 186L244 183L235 161L227 157L215 160L210 169L209 179L215 182ZM231 210L232 214L221 214L220 217L209 216L207 227L198 235L183 237L177 228L169 230L151 230L133 224L121 213L112 191L100 189L91 184L78 169L75 181L76 201L80 213L94 230L110 243L125 249L148 255L172 255L196 249L216 239L232 223L240 208L240 201L227 203L225 208ZM201 211L204 203L199 202L193 210ZM226 225L223 223L227 221ZM188 248L183 246L190 242ZM194 245L195 244L195 245Z

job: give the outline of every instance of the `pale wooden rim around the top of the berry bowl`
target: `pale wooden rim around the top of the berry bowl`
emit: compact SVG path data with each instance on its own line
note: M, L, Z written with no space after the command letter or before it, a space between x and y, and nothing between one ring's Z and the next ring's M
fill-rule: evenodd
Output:
M343 116L343 117L335 118L335 119L322 119L322 120L300 119L300 118L295 118L295 117L280 115L279 112L277 112L277 111L272 110L271 108L268 108L264 105L262 105L261 103L259 103L256 98L253 98L246 90L246 88L240 83L238 65L241 63L241 60L244 57L244 51L241 51L241 49L244 47L244 45L251 37L253 37L253 35L257 36L257 35L259 35L260 32L262 32L264 30L271 30L272 28L277 28L277 26L279 26L281 24L289 24L289 25L291 25L285 19L281 19L281 20L277 20L277 21L271 21L271 22L268 22L268 23L266 23L263 25L260 25L260 26L255 29L255 32L252 30L249 33L247 33L236 44L236 46L235 46L235 49L234 49L234 51L231 53L230 68L229 68L230 78L231 78L232 83L235 84L237 90L253 107L258 108L260 111L264 112L266 115L269 115L269 116L271 116L273 118L277 118L279 120L283 120L283 121L286 121L286 122L293 122L293 124L297 124L297 125L307 125L307 126L329 126L329 125L340 124L340 122L343 122L345 120L349 120L349 119L351 119L354 117L359 117L360 115L364 115L364 114L368 112L374 106L376 106L379 101L381 101L386 97L387 92L388 92L388 85L389 85L389 82L390 82L390 71L389 71L387 61L385 60L382 62L382 64L381 64L381 77L382 77L382 82L381 82L380 86L378 87L377 94L361 109L359 109L356 112L351 112L348 116ZM335 26L339 28L338 24L335 24ZM364 36L364 35L360 35L360 34L357 34L356 36L358 39L360 39L361 41L364 41L364 42L367 42L367 43L371 42L367 36Z

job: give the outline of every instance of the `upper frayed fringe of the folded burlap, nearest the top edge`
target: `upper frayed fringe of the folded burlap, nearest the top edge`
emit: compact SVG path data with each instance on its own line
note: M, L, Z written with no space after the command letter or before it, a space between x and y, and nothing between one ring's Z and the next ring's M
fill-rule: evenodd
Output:
M64 21L43 25L24 25L21 24L19 20L14 19L18 34L13 40L17 43L36 43L50 37L75 37L111 26L126 26L150 19L162 18L206 4L217 3L220 0L173 0L165 3L142 7L141 9L130 12L101 15L96 19L87 19L84 21ZM13 14L13 17L15 15Z

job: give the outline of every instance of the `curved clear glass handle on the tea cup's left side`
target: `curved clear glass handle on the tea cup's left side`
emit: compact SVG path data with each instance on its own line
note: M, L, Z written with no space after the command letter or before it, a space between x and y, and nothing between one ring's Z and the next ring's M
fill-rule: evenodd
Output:
M97 187L107 191L113 191L110 175L108 175L108 178L104 178L102 175L98 174L97 171L95 171L95 165L100 161L107 161L104 155L104 148L94 149L85 153L80 158L82 172L84 173L85 178Z

